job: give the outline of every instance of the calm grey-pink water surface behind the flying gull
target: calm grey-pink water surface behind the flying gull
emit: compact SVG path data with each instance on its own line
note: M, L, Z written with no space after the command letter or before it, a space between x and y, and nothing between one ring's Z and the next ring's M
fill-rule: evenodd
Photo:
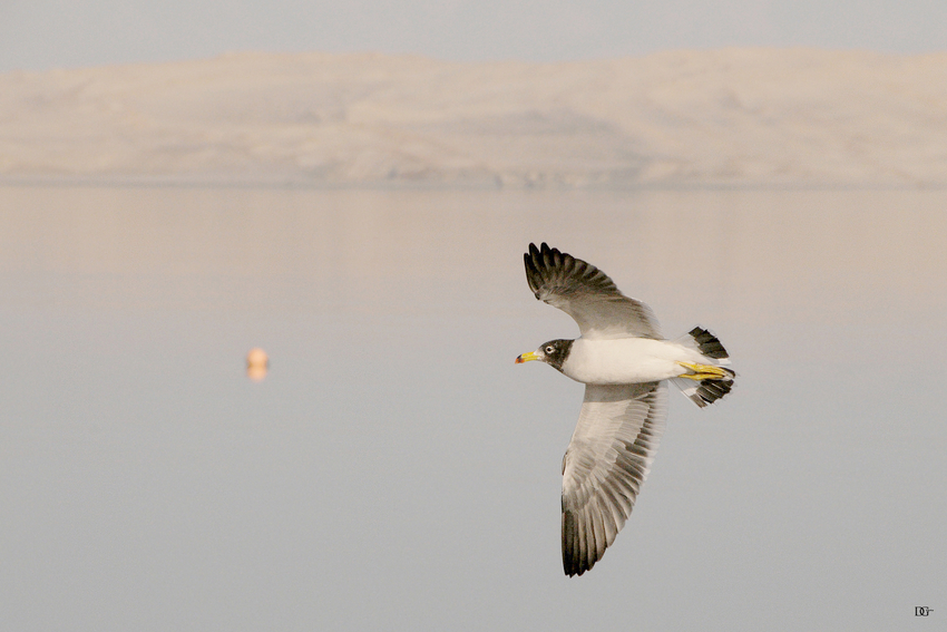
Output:
M947 616L947 192L0 188L0 628L896 630ZM547 241L711 328L563 575ZM244 375L252 347L271 370ZM927 621L926 629L935 624Z

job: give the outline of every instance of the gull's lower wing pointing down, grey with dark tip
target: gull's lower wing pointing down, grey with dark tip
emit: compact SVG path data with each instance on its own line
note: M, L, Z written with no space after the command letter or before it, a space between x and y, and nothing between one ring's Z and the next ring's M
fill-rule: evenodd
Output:
M665 382L586 385L563 459L563 567L582 575L602 560L647 478L667 414Z

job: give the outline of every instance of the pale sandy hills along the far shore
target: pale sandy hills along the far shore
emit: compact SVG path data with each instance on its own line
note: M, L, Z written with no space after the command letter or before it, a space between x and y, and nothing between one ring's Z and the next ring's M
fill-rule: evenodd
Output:
M0 182L947 185L947 54L382 55L0 75Z

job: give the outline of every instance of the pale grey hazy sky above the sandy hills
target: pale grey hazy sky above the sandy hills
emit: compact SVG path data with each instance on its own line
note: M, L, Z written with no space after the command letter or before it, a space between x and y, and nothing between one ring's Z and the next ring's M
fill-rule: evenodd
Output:
M560 61L675 48L947 49L943 0L3 0L0 71L380 51Z

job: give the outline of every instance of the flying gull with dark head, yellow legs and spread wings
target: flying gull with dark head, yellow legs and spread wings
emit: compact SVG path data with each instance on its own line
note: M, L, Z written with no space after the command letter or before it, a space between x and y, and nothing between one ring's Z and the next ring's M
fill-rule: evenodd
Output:
M733 388L730 356L695 327L661 336L651 308L618 291L607 274L545 243L524 255L540 301L578 324L575 340L550 340L516 363L540 360L585 385L585 400L563 457L563 568L582 575L622 531L647 478L667 416L667 381L701 408Z

